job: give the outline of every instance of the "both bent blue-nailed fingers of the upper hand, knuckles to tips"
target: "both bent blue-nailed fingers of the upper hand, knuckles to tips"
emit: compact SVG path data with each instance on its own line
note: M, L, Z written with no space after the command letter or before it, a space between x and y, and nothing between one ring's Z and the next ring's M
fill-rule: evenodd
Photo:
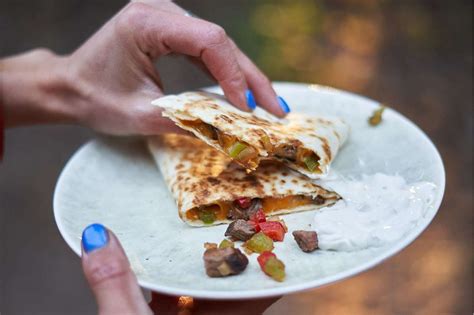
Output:
M279 117L290 111L268 78L236 47L223 28L183 12L172 3L141 0L122 12L117 25L131 33L139 49L151 58L179 53L198 59L227 99L242 110L253 110L259 104Z

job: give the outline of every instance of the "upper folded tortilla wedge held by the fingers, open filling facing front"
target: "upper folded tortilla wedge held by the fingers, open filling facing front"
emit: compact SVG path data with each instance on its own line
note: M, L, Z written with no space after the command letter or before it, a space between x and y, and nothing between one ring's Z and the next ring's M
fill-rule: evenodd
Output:
M338 118L289 114L278 119L261 108L238 110L222 95L207 92L169 95L152 104L251 171L262 159L276 159L310 178L322 178L349 132Z

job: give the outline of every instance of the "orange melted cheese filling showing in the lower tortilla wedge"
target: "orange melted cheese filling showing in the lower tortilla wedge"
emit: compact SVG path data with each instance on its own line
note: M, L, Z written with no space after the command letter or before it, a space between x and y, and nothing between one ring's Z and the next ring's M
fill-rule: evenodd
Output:
M336 199L336 197L334 197L334 199ZM262 211L266 214L271 214L272 212L282 209L292 210L306 205L321 205L324 204L326 200L327 199L322 198L321 196L313 199L311 196L305 195L264 197L262 198ZM198 221L200 211L212 211L214 213L215 220L226 220L227 214L229 213L231 207L232 201L219 201L215 204L189 210L186 212L186 218L188 220Z

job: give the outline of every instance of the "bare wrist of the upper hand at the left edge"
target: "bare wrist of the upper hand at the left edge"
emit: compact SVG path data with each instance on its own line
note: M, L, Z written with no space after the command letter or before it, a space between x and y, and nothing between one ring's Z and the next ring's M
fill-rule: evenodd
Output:
M67 57L44 49L0 60L6 127L75 123L72 81Z

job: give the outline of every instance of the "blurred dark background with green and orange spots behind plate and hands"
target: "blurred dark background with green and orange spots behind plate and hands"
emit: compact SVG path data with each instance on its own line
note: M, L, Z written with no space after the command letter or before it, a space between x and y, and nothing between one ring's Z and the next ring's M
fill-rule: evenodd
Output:
M361 275L283 297L266 314L472 314L472 1L178 3L222 25L272 80L330 85L395 108L433 139L445 162L443 205L417 241ZM2 0L0 56L38 46L69 53L125 4ZM158 67L167 92L212 84L180 58ZM49 126L6 136L0 312L93 313L51 200L65 162L94 134Z

